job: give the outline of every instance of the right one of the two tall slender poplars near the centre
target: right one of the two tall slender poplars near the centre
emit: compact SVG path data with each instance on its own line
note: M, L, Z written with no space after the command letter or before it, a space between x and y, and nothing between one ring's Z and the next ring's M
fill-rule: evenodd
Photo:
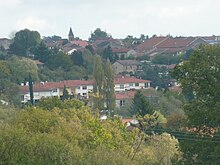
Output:
M115 89L114 89L114 73L109 60L106 61L104 65L104 90L106 99L106 108L108 110L115 109Z

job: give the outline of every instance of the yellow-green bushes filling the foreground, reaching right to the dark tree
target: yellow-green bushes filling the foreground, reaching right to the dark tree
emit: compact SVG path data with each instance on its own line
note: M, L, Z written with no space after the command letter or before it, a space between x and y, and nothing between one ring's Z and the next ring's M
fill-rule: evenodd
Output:
M169 134L128 131L119 118L100 120L77 100L0 110L0 164L170 164L180 157Z

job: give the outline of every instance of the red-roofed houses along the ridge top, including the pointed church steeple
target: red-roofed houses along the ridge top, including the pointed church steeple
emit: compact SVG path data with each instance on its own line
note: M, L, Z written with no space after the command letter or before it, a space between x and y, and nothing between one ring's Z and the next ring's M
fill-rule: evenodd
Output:
M67 54L82 50L91 45L94 50L102 50L111 47L113 53L117 54L119 59L126 59L130 56L140 57L144 54L154 56L156 54L178 55L189 49L195 49L200 44L213 45L220 43L219 36L197 36L197 37L172 37L172 36L152 36L143 42L127 47L123 39L112 37L97 39L90 43L74 36L70 28L68 39L53 40L50 37L44 38L49 48L57 47Z

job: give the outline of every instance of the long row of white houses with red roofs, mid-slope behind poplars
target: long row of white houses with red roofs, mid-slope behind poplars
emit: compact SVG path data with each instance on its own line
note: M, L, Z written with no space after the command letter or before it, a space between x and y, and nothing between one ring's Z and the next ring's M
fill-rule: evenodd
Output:
M135 77L117 77L114 80L114 84L117 107L125 105L126 99L128 98L128 91L150 88L149 80L137 79ZM34 101L37 102L44 97L62 98L64 86L71 96L79 99L88 99L90 93L93 92L93 80L41 82L33 85ZM20 86L20 94L23 103L30 101L28 84ZM133 96L134 93L129 95L129 98Z

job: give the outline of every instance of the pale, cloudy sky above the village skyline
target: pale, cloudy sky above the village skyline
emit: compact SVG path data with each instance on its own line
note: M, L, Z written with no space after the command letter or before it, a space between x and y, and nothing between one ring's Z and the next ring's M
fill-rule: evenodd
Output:
M220 35L219 0L0 0L0 38L28 28L41 36L88 39L96 28L114 38L141 34Z

